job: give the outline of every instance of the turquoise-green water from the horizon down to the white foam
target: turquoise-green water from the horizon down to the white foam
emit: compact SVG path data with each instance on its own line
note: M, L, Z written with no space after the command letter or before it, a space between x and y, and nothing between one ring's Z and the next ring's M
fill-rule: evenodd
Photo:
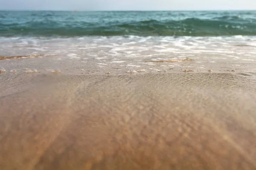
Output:
M256 11L0 11L0 37L256 35Z

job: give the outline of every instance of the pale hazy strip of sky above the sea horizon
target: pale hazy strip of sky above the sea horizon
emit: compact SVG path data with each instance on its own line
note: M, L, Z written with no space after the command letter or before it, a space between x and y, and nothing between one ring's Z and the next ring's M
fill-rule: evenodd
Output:
M239 10L256 0L0 0L2 10Z

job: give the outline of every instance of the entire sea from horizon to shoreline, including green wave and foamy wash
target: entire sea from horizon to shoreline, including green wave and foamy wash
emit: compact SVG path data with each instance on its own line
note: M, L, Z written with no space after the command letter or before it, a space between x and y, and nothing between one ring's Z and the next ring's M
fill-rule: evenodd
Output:
M0 11L0 56L20 70L252 71L256 11Z

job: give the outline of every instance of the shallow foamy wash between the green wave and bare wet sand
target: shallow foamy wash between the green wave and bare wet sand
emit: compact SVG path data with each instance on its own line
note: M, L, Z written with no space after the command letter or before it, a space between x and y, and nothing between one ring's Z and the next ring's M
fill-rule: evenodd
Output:
M142 69L256 72L256 37L250 36L2 37L0 43L0 66L7 71L35 68L40 72L59 69L70 74L125 74Z

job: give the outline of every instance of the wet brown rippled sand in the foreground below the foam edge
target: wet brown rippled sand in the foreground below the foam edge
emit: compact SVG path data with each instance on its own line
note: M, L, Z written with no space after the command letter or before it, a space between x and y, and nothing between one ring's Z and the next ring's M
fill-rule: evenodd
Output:
M1 74L1 170L255 170L245 74Z

